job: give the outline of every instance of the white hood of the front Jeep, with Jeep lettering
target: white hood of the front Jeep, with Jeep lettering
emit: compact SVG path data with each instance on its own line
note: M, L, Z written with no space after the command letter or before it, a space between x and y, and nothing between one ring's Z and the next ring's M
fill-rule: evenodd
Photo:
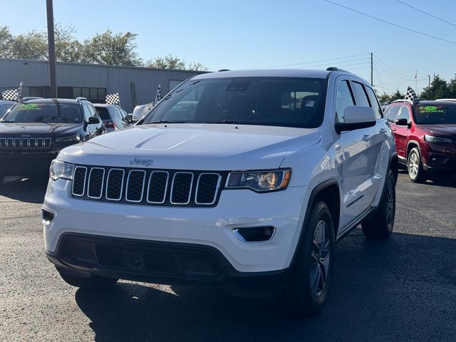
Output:
M280 166L287 155L320 141L316 129L255 125L138 125L62 150L82 165L174 170L254 170ZM152 161L150 161L152 160Z

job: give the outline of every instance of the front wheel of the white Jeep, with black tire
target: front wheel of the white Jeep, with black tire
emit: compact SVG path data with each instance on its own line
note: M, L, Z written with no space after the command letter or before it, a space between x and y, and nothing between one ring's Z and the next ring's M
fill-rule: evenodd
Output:
M323 310L331 287L334 229L331 212L325 202L314 204L304 229L301 245L296 252L296 262L279 295L281 309L286 314L301 317L314 316ZM318 240L321 243L316 244Z

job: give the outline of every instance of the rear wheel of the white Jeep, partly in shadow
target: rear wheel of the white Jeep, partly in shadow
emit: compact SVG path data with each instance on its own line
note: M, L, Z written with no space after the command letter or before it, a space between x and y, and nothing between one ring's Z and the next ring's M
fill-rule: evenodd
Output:
M389 170L378 208L361 222L363 233L369 239L388 239L393 233L396 210L395 185L393 171Z

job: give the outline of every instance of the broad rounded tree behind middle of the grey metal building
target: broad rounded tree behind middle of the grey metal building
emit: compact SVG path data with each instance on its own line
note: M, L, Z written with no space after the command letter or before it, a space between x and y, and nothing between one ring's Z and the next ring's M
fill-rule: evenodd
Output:
M113 33L108 28L83 43L81 61L110 66L142 66L135 49L136 33Z

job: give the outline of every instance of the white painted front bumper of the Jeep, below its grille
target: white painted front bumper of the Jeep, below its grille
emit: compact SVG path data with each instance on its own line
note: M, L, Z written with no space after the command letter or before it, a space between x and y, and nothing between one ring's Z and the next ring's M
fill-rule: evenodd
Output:
M156 207L75 199L70 192L70 181L48 183L43 209L53 219L43 223L43 231L49 255L58 254L64 234L88 234L212 248L238 272L289 267L309 197L307 187L267 194L223 190L216 207ZM233 232L263 226L276 227L268 242L242 242Z

